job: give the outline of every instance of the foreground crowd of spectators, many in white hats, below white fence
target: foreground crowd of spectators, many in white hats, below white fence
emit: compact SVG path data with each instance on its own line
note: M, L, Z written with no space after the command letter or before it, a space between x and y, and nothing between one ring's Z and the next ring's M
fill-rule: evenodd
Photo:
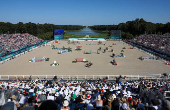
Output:
M170 110L169 81L2 81L1 110Z

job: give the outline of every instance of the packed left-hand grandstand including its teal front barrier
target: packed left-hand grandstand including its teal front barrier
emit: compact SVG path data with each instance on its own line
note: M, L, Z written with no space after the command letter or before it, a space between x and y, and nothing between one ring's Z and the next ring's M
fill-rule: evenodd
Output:
M0 35L0 41L0 61L13 58L45 43L42 39L27 33L2 34Z

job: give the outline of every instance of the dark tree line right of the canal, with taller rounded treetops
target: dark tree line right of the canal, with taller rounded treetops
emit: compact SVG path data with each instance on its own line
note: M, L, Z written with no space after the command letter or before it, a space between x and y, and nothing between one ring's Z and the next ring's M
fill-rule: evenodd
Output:
M126 23L119 23L118 25L95 25L90 27L96 31L108 30L108 37L110 30L121 30L121 37L123 39L133 39L142 34L159 34L170 33L170 22L166 24L147 22L143 18Z

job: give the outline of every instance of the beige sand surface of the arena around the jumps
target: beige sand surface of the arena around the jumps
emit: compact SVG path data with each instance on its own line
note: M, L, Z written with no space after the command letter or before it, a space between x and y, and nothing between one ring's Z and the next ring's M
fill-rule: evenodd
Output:
M42 46L25 55L10 60L5 64L0 65L1 75L149 75L149 74L162 74L164 72L170 72L170 66L165 63L156 60L144 60L140 61L138 58L142 55L147 55L140 52L137 49L129 49L127 44L117 44L112 47L108 47L118 41L105 41L106 45L86 45L89 43L97 44L95 41L81 41L81 51L75 51L77 45L67 44L67 41L60 41L60 44L54 44L58 48L71 47L72 52L57 54L58 50L53 50L50 46ZM110 63L113 58L111 52L96 54L99 47L102 49L108 47L109 50L113 49L116 55L121 53L123 47L125 58L115 58L117 66ZM92 52L92 54L84 54L86 52ZM29 63L28 61L33 57L46 56L50 58L47 62L35 62ZM76 58L86 58L91 61L93 65L90 68L85 67L85 63L72 63ZM59 66L50 66L53 61L57 61Z

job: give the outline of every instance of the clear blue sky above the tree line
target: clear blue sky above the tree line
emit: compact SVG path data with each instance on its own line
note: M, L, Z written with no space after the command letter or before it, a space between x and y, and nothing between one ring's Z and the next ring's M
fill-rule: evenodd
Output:
M170 0L0 0L0 22L110 25L170 22Z

